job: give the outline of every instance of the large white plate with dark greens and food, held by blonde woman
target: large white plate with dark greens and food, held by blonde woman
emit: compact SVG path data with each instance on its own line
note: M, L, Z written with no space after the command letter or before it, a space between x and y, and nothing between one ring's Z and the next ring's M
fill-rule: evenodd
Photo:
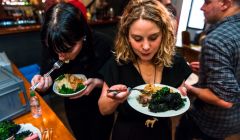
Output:
M136 111L154 117L173 117L186 112L190 107L187 96L180 94L174 87L163 84L144 84L130 90L128 104Z

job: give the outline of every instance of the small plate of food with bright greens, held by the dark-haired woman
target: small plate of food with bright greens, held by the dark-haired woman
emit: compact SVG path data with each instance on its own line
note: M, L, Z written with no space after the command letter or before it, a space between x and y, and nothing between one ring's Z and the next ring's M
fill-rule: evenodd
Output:
M87 88L83 85L86 80L83 74L63 74L54 80L53 91L59 96L71 97Z

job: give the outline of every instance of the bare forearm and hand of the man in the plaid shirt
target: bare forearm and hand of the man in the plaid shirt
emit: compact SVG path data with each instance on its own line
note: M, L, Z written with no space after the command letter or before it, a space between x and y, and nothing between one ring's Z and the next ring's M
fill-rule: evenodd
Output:
M187 89L187 92L195 95L200 100L213 104L222 108L231 108L233 103L226 102L223 99L216 96L210 89L208 88L197 88L188 84L185 84L184 87Z

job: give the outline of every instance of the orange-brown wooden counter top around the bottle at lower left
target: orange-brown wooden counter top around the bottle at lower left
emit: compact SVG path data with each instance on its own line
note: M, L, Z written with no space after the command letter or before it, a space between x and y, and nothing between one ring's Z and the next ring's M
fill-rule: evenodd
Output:
M29 88L31 86L30 83L27 81L27 79L22 75L22 73L15 65L12 65L12 69L14 74L23 80L26 92L29 96L30 94ZM31 112L28 112L26 114L21 115L20 117L15 118L14 122L17 124L31 123L35 127L39 128L40 131L46 128L52 128L53 129L52 140L75 140L71 132L64 126L64 124L61 122L58 116L52 111L52 109L47 105L43 98L39 96L38 93L36 93L36 95L40 99L42 107L42 118L35 119L32 117Z

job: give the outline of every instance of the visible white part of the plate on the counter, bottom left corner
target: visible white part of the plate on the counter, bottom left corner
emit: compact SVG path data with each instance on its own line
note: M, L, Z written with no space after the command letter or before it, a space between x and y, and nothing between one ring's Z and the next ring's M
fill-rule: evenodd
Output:
M18 134L18 133L21 133L21 132L23 132L23 131L29 130L29 131L33 132L33 134L37 134L40 140L42 139L42 135L41 135L40 130L39 130L37 127L33 126L32 124L30 124L30 123L25 123L25 124L20 124L20 126L21 126L21 128L20 128L20 130L17 132L17 134Z

